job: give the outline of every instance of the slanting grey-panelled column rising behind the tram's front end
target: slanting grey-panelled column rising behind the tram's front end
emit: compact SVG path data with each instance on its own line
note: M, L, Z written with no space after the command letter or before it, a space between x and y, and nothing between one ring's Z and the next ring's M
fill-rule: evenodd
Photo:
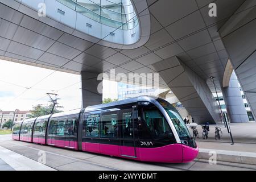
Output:
M220 122L218 105L207 83L177 56L153 66L197 124Z

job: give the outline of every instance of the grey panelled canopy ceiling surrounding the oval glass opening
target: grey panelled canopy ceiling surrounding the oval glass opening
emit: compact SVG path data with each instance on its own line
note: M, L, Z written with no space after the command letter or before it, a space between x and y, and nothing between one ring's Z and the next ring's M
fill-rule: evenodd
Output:
M210 17L209 3L217 5ZM0 0L0 58L38 67L81 72L155 73L152 64L177 56L214 90L221 90L228 53L218 30L243 0L132 1L140 19L143 45L113 48L57 20L38 18L22 1ZM253 5L251 5L253 6ZM57 7L56 7L57 8ZM143 22L147 22L143 23ZM146 31L147 30L147 31ZM159 78L160 88L169 88Z

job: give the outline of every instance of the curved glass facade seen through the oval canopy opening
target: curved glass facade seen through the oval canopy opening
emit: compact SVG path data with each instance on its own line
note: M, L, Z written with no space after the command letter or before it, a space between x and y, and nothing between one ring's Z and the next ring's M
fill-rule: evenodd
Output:
M65 6L110 27L131 30L138 18L130 0L57 0Z

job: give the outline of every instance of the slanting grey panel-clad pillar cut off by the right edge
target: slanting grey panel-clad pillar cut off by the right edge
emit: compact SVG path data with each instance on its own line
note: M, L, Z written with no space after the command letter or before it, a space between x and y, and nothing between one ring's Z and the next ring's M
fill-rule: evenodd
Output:
M220 29L220 35L255 118L256 36L253 36L256 31L255 1L245 1L237 12L242 14L232 16Z

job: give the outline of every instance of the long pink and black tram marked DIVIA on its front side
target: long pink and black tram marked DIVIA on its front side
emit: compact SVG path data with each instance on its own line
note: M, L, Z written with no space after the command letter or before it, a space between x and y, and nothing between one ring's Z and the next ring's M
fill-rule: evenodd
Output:
M148 96L26 119L13 139L145 162L190 162L199 152L177 110Z

